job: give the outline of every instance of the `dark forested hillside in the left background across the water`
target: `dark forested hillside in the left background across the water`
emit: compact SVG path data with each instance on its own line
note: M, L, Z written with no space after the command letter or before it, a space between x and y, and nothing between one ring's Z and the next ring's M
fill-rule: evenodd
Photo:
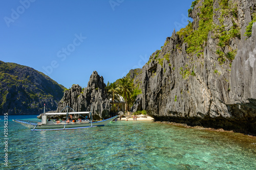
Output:
M0 114L56 110L65 87L31 67L0 61Z

